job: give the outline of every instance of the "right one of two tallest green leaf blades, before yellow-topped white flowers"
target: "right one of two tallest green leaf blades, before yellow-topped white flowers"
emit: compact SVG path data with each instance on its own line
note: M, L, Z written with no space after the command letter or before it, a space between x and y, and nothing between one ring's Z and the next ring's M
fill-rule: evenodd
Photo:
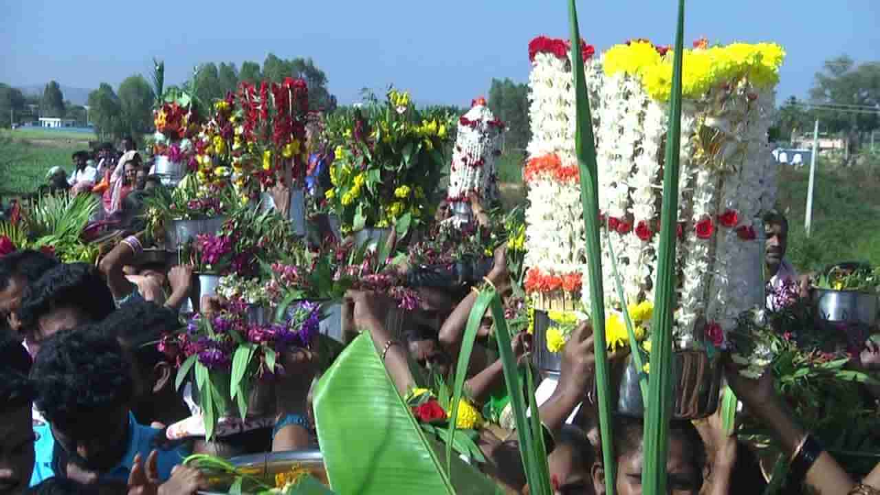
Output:
M651 373L644 421L645 493L666 492L666 453L672 409L672 315L675 294L675 240L678 224L678 153L681 147L681 70L684 59L685 0L678 0L678 26L664 159L660 248L657 254L654 320L651 325Z

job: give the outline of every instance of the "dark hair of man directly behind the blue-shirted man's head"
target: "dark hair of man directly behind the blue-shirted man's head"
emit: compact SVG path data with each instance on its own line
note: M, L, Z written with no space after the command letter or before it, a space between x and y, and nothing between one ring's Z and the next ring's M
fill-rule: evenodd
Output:
M113 294L97 269L87 263L62 263L27 287L19 318L26 332L55 307L77 307L91 321L102 321L116 309Z

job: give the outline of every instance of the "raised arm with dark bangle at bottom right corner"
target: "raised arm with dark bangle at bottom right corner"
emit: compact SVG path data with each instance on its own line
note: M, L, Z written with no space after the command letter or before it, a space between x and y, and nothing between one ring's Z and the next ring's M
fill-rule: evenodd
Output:
M788 408L776 395L771 370L766 371L759 380L750 380L729 364L725 374L730 388L747 410L773 432L782 453L792 460L792 469L805 469L799 481L822 495L846 495L853 489L853 479L831 454L817 447L815 440L797 425Z

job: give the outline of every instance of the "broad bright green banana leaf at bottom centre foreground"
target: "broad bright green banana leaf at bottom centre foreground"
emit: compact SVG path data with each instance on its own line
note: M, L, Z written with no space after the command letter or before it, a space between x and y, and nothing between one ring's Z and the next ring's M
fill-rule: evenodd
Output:
M314 395L330 486L339 493L502 493L473 466L429 440L394 387L370 336L358 336L321 378ZM450 474L452 476L450 476Z

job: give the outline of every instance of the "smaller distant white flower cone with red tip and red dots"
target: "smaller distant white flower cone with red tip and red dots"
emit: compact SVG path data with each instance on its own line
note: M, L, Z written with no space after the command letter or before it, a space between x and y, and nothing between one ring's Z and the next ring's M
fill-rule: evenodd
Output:
M486 100L473 100L473 107L458 119L458 137L452 153L447 201L467 203L472 194L483 201L497 197L495 160L501 155L504 123L492 115Z

